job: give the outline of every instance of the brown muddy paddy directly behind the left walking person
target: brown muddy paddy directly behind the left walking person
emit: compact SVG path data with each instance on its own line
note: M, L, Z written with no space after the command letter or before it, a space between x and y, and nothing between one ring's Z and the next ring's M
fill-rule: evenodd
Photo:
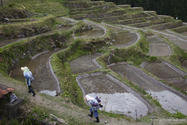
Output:
M21 71L22 66L27 66L33 73L34 81L32 86L34 89L41 93L46 93L51 96L56 95L57 84L49 69L49 57L60 51L61 49L55 49L53 51L46 51L35 57L34 59L23 63L12 70L12 78L20 81L25 81L23 72Z

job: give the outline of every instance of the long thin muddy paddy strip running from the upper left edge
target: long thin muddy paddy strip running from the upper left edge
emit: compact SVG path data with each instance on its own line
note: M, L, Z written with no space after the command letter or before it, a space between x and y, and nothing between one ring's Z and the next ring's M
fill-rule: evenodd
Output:
M42 36L42 35L47 35L47 34L53 34L53 33L55 33L55 32L60 32L60 31L65 31L65 30L71 29L72 27L73 27L73 26L64 27L64 28L60 28L60 29L55 29L55 30L52 30L52 31L49 31L49 32L46 32L46 33L42 33L42 34L39 34L39 35L27 37L27 38L18 38L18 39L2 40L2 41L0 41L0 47L6 46L6 45L11 44L11 43L14 43L14 42L19 42L19 41L21 41L21 40L25 40L25 39L28 39L28 38L35 38L35 37L37 37L37 36Z

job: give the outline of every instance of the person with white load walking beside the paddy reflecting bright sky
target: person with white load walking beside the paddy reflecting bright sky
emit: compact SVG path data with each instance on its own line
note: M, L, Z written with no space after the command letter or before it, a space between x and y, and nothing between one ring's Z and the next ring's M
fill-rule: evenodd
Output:
M93 115L94 115L94 117L96 118L95 122L99 123L99 117L98 117L99 114L97 112L97 109L99 109L100 107L103 107L101 105L101 100L98 97L93 98L89 95L86 95L84 97L84 100L87 101L91 106L91 108L90 108L91 114L88 114L88 116L93 117Z

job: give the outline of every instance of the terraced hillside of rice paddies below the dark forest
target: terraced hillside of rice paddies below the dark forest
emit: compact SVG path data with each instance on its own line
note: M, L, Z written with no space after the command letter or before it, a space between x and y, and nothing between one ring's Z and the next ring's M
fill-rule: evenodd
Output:
M0 84L24 98L11 120L0 100L0 124L64 124L50 114L97 124L86 94L102 99L99 124L187 124L187 23L90 0L8 0L0 10ZM35 97L22 66L34 74Z

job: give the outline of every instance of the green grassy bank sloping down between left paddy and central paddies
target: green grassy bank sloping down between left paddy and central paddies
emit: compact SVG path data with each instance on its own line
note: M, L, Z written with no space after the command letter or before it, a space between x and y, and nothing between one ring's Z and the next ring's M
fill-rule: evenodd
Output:
M68 49L68 51L70 50ZM63 52L68 51L62 51L57 54L58 56L53 55L51 64L54 71L56 72L56 75L60 78L59 81L63 92L62 95L65 97L69 97L71 99L71 102L76 105L83 105L84 102L82 101L82 91L76 82L76 75L71 75L69 63L62 63L61 59L63 57L59 58L61 55L63 55Z

